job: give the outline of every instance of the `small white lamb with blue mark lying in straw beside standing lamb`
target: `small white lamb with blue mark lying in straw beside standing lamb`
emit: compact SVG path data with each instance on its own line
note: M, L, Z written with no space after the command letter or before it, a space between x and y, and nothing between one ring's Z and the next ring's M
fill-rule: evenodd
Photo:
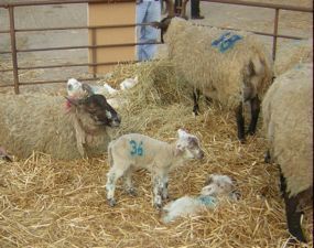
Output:
M215 208L219 198L228 197L231 201L238 198L232 180L227 175L212 174L206 181L206 186L197 197L183 196L163 207L163 223L170 223L177 217L197 214L207 208Z

